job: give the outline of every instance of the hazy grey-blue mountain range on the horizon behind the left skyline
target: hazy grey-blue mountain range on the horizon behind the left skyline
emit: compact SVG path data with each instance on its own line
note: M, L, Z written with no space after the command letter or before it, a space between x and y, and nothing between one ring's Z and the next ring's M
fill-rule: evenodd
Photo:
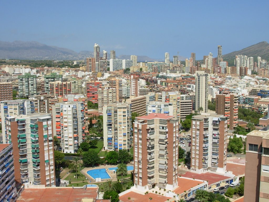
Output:
M101 53L102 55L102 53ZM36 41L0 41L0 59L18 60L84 60L93 57L93 51L80 51L79 53L56 46L48 46ZM130 59L131 55L119 55L118 59ZM108 58L110 54L108 53ZM185 57L179 56L179 60ZM153 59L146 55L138 55L137 61L164 61L164 59Z

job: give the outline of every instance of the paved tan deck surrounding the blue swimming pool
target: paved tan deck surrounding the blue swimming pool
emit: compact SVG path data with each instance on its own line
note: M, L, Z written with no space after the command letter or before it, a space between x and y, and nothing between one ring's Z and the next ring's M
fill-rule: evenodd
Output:
M90 183L93 183L93 182L95 182L95 179L93 178L93 177L91 177L88 173L87 173L87 171L89 171L89 170L93 170L93 169L101 169L101 168L114 168L114 167L117 167L118 165L101 165L101 166L96 166L96 167L91 167L91 168L83 168L82 170L81 170L81 172L82 172L82 174L84 175L84 176L86 176L91 182ZM128 163L127 164L127 166L133 166L133 164L131 164L131 163ZM113 170L108 170L108 169L106 169L107 170L107 173L108 173L108 175L111 177L111 178L109 178L109 179L111 179L112 181L117 181L118 179L117 179L117 175L116 175L116 173L113 173ZM128 174L129 173L131 173L131 171L132 170L129 170L128 171ZM106 182L107 180L109 180L109 179L101 179L101 181L100 182Z

